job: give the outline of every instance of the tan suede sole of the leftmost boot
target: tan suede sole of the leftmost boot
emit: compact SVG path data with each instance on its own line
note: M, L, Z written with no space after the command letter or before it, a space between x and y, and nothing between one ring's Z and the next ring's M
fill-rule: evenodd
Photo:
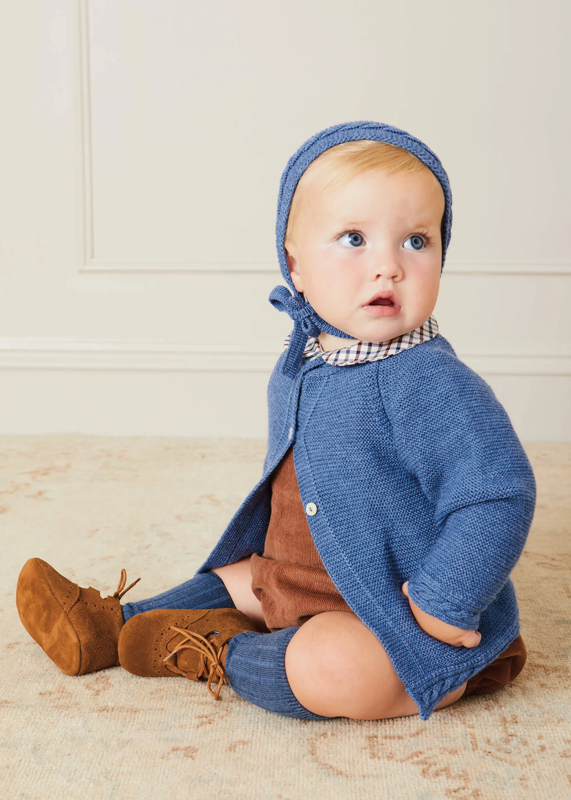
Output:
M77 675L82 665L78 634L55 598L38 558L22 567L16 588L16 606L34 642L66 675Z

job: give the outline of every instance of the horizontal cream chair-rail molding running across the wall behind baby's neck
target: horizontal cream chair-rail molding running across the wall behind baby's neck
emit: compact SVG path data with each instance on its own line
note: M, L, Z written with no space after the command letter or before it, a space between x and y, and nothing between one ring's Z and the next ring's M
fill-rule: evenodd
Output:
M182 345L170 342L73 342L0 339L0 370L122 370L262 372L270 374L274 348ZM521 348L465 350L458 357L481 375L571 375L571 352Z

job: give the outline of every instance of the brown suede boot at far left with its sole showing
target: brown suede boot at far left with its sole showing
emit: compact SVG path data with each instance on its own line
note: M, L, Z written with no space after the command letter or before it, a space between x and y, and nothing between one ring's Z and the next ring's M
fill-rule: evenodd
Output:
M121 570L117 591L103 599L91 586L83 589L41 558L30 558L16 589L22 625L67 675L118 666L117 643L123 626L119 601L140 580L125 589L126 579L126 571Z

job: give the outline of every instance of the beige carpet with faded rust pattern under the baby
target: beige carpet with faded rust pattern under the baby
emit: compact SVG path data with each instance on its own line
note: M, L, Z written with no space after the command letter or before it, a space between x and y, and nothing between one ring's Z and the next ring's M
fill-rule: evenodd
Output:
M40 556L108 594L194 574L258 479L247 440L0 438L2 798L571 797L571 445L532 445L539 484L515 570L528 666L433 715L298 722L230 689L120 668L70 678L22 628L18 571Z

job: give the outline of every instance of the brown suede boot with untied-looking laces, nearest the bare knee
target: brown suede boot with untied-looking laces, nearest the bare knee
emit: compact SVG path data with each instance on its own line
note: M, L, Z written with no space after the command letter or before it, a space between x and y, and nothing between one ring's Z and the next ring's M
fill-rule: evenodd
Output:
M224 667L228 642L245 630L256 630L235 608L157 609L131 617L119 634L119 662L134 675L206 678L215 700L228 683ZM211 688L218 680L216 691Z

